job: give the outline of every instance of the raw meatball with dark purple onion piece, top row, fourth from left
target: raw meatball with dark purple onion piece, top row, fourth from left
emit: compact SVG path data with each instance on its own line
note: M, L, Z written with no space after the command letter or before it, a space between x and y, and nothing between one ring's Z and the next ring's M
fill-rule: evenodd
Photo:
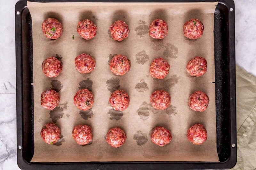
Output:
M155 39L163 39L168 33L167 23L163 19L155 19L149 26L149 35Z

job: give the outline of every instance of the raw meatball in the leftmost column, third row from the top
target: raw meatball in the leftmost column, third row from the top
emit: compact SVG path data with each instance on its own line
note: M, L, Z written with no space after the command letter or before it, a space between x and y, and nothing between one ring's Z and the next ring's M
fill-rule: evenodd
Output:
M55 90L46 90L41 94L41 105L49 110L54 109L60 102L60 94Z

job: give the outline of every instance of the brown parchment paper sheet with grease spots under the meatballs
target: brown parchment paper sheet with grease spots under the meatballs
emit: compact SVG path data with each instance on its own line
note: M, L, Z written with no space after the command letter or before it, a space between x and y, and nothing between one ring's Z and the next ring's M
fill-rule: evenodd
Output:
M28 9L33 25L34 69L34 123L35 150L33 162L77 161L219 161L216 150L216 116L214 82L213 21L216 3L33 3ZM41 24L46 18L57 18L63 25L63 34L57 40L44 37ZM97 26L97 35L84 40L76 32L81 19L91 19ZM156 18L164 19L169 27L163 40L148 35L148 25ZM204 23L204 35L188 40L183 35L183 24L198 18ZM124 20L130 28L129 37L114 41L108 33L116 20ZM75 36L72 40L72 36ZM75 57L88 53L96 60L91 74L80 74L75 68ZM124 76L115 76L108 61L115 54L131 60L131 70ZM49 56L59 56L63 71L56 78L44 76L41 64ZM186 65L195 56L203 56L208 63L207 73L199 78L190 77ZM171 65L163 80L149 75L149 64L156 57L164 57ZM73 104L79 88L89 88L94 95L91 110L83 112ZM51 112L40 105L40 95L46 89L60 92L60 104ZM123 89L130 96L130 105L123 112L111 109L111 92ZM149 97L155 90L170 93L171 106L157 111ZM188 107L188 98L196 90L207 93L208 109L202 113ZM44 143L41 128L54 122L61 128L62 138L57 145ZM202 123L208 139L202 145L188 142L187 130ZM71 136L78 124L93 129L93 142L86 146L76 144ZM121 127L127 134L120 148L109 146L105 140L108 130ZM170 129L172 141L159 147L151 142L150 132L156 126Z

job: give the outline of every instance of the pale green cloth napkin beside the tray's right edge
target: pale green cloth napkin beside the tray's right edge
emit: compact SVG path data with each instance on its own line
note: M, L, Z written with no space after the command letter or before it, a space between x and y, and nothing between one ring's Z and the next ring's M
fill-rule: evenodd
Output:
M237 163L233 169L256 169L256 77L236 66Z

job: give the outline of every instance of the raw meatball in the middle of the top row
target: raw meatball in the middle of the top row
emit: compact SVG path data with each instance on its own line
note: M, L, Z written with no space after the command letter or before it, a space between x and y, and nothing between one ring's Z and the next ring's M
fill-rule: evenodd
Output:
M116 41L123 41L128 37L130 32L128 25L124 21L114 22L110 26L109 31L112 38Z

